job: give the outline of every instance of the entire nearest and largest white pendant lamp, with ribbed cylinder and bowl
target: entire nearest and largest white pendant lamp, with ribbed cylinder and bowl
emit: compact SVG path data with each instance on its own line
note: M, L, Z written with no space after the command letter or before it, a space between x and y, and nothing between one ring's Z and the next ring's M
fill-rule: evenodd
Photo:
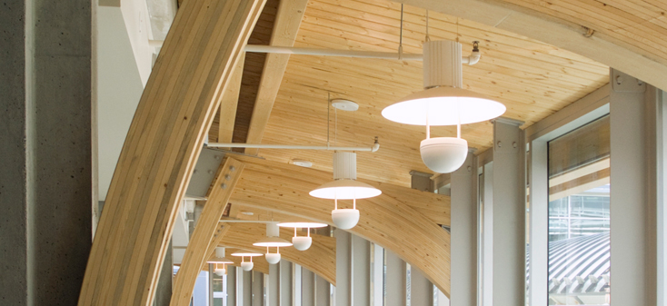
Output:
M382 113L393 122L426 126L422 161L436 173L452 173L465 162L468 142L461 138L461 124L491 120L506 110L483 94L463 89L461 60L457 42L423 43L424 90L387 106ZM456 125L456 137L431 138L431 125Z

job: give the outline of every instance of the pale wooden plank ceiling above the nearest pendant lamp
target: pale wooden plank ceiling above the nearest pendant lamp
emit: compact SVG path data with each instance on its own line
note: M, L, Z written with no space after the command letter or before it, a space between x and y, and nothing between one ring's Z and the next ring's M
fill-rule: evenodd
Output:
M277 6L276 0L267 2L249 44L268 44ZM405 53L422 52L425 14L422 8L404 6ZM401 5L391 1L311 0L294 46L396 52L400 16ZM608 66L492 26L430 12L429 35L432 40L458 38L464 54L472 50L473 41L480 41L482 60L463 66L463 84L505 104L508 110L504 116L525 122L523 127L608 82ZM263 55L246 55L234 142L244 143L263 66ZM422 63L418 61L292 55L262 143L322 145L327 129L332 144L338 145L370 146L378 136L380 151L358 154L359 176L408 186L411 170L430 172L419 155L424 128L390 122L381 112L421 89ZM327 121L327 94L353 100L360 109L339 111L335 123L332 108ZM215 129L216 123L211 135L217 134ZM462 131L463 138L478 152L491 145L491 123L464 125ZM454 133L452 127L432 130L433 136ZM283 163L304 159L313 162L316 169L331 171L330 152L263 149L259 155Z

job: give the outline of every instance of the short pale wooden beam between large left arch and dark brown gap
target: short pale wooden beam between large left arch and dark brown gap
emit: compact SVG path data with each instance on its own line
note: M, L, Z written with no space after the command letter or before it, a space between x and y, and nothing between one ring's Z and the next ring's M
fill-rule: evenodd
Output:
M234 67L232 80L224 89L220 103L220 123L218 124L218 143L232 143L234 123L236 122L236 106L241 92L241 79L244 75L245 56L239 58Z

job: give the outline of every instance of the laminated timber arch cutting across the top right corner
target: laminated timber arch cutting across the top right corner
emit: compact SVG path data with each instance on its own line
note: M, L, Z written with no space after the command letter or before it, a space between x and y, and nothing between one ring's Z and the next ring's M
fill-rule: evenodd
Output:
M586 56L667 90L667 4L618 0L398 0Z

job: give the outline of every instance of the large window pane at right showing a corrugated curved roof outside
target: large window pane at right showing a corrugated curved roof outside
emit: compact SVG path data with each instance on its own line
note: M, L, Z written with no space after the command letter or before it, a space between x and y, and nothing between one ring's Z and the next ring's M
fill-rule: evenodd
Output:
M549 143L549 305L609 305L608 117Z

